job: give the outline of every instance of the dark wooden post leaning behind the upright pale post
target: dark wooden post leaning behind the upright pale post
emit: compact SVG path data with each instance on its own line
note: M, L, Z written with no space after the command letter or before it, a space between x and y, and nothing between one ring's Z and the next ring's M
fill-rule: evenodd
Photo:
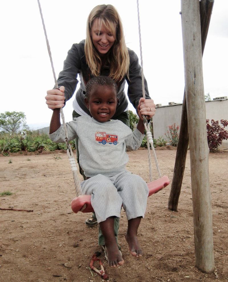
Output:
M213 9L214 0L200 1L200 26L201 26L201 45L202 56L207 39L208 28L211 19L211 13ZM182 105L180 134L176 151L176 160L174 165L172 185L170 189L170 196L168 201L168 208L172 211L177 211L178 201L180 197L180 190L182 186L186 155L188 151L188 118L186 108L186 97L184 89L184 98Z

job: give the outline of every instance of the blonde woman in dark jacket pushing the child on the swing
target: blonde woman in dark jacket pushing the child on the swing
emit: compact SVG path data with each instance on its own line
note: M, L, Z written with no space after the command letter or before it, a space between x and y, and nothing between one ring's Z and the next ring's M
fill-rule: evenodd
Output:
M73 118L90 115L84 103L86 84L92 77L105 75L111 77L118 86L119 102L113 119L121 120L129 126L125 82L128 83L129 100L137 109L139 99L143 97L141 67L135 52L126 46L120 16L112 5L98 5L90 12L87 19L86 40L73 44L68 51L63 70L58 77L60 89L47 91L45 99L48 108L64 107L76 90L78 74L80 88L73 101ZM148 94L146 80L145 92L146 100L141 104L140 112L151 118L155 113L155 104ZM76 149L79 162L78 140L76 140ZM80 173L83 175L81 168ZM86 224L90 226L97 224L95 216L88 218ZM118 222L116 224L118 233Z

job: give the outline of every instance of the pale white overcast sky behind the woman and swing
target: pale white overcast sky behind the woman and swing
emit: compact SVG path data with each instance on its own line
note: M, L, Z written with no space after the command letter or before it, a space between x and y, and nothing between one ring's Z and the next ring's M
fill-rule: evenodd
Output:
M73 43L85 38L89 12L99 4L114 5L123 21L127 47L140 60L137 1L40 0L56 76ZM155 104L182 103L184 66L180 0L139 0L143 69ZM228 96L228 1L215 0L203 54L204 93ZM36 0L1 1L0 113L22 111L31 129L48 126L52 111L45 103L54 77ZM64 107L72 119L72 99ZM133 107L129 105L129 109Z

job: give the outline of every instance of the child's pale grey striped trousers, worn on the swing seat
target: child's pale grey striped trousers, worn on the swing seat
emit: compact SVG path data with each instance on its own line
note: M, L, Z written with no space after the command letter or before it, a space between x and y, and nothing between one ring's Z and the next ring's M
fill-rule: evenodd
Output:
M98 174L82 181L81 189L83 195L91 195L97 222L120 217L122 204L127 220L144 217L149 191L139 175L126 170L111 177Z

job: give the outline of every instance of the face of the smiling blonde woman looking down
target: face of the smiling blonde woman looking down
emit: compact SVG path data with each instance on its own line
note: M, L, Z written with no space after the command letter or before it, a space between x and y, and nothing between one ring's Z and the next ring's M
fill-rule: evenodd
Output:
M91 37L93 44L101 57L107 54L115 42L114 35L111 31L103 28L102 25L99 30L99 19L95 19L93 21L91 27Z

